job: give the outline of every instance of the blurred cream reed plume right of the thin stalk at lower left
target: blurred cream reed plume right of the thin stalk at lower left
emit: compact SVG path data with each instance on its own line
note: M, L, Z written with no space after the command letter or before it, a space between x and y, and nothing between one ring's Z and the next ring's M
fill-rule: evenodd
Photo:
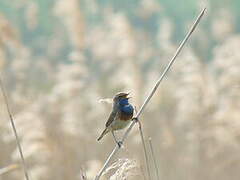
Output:
M35 102L14 116L25 161L28 165L37 164L37 166L29 166L28 169L30 176L34 177L43 177L48 173L47 164L51 154L46 144L45 128L39 105L40 103ZM11 158L15 161L19 160L17 148L12 152ZM20 177L20 174L22 174L21 171L16 171L13 176Z

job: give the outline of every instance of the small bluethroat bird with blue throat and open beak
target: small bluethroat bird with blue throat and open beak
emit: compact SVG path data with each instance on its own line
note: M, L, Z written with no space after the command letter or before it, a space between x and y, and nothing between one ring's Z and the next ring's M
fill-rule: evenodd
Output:
M125 128L133 117L134 108L128 102L130 98L128 95L129 93L120 92L114 96L112 112L107 120L104 131L97 139L98 141L111 131L115 142L121 147L121 142L117 141L114 131Z

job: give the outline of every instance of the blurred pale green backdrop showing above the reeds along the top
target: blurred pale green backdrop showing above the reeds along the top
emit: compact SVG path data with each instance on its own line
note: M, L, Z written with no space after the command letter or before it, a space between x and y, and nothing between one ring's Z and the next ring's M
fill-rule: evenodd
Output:
M104 12L107 8L111 9L116 13L125 14L130 20L131 24L149 33L152 38L156 35L159 26L159 22L162 17L169 18L174 24L174 33L172 40L174 42L179 42L184 34L186 33L186 23L192 22L193 18L198 13L199 1L194 0L157 0L160 4L161 10L151 14L147 18L139 16L137 8L141 5L139 0L101 0L95 1L98 6L97 12L92 12L91 3L87 0L80 1L81 10L84 13L84 19L86 20L86 26L91 28L104 21ZM30 30L26 27L25 20L25 10L27 8L27 3L34 2L38 6L38 25L36 28ZM30 1L0 1L0 12L8 18L14 26L19 30L21 34L20 37L22 41L32 47L33 53L36 55L46 54L47 46L39 44L39 39L43 39L46 44L48 44L48 39L53 36L55 28L61 25L61 28L65 28L61 24L61 20L56 18L53 14L53 6L56 0L30 0ZM219 9L228 8L236 19L240 18L240 1L238 0L212 0L209 1L209 6L211 6L211 11L208 12L208 18L203 22L208 25L211 21L213 14L217 13ZM206 27L208 28L208 27ZM236 24L236 32L240 31L240 25ZM206 36L208 36L206 34ZM211 37L209 37L211 38ZM212 46L214 45L214 39L210 39ZM154 40L153 40L154 41ZM154 44L154 43L153 43ZM66 45L69 45L66 42ZM209 49L209 53L211 51ZM209 54L208 53L208 54ZM62 57L64 53L62 54ZM210 58L210 54L207 56ZM62 59L62 58L61 58ZM66 60L66 58L64 58Z

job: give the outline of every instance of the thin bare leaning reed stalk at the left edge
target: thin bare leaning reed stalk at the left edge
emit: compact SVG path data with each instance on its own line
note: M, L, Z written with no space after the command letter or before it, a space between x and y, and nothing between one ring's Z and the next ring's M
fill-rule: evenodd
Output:
M20 156L21 156L24 175L25 175L26 180L29 180L29 176L28 176L28 172L27 172L27 166L26 166L24 155L23 155L23 152L22 152L22 147L21 147L21 144L20 144L20 141L19 141L19 137L18 137L18 134L17 134L17 129L15 127L13 116L12 116L12 113L10 111L10 107L9 107L9 104L8 104L7 94L6 94L6 91L5 91L5 88L4 88L4 85L3 85L3 81L2 81L1 78L0 78L0 86L1 86L2 95L3 95L3 98L4 98L4 102L5 102L5 105L6 105L6 108L7 108L7 112L8 112L9 118L10 118L10 122L11 122L11 125L12 125L12 129L13 129L13 132L14 132L14 135L15 135L15 139L16 139L16 142L17 142L18 151L19 151Z

